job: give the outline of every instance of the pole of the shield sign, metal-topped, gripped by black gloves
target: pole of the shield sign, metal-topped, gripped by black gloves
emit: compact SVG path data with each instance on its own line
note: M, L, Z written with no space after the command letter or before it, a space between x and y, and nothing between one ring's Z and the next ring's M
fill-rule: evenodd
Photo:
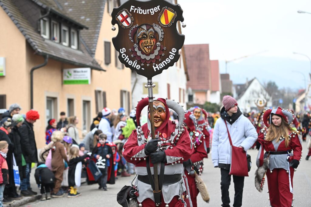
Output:
M154 114L153 114L153 91L152 91L152 88L154 88L155 86L156 84L152 83L152 79L147 79L150 125L151 125L151 139L156 139L155 122L154 122ZM155 181L155 192L159 192L158 163L153 164L153 174L154 174L154 181Z

